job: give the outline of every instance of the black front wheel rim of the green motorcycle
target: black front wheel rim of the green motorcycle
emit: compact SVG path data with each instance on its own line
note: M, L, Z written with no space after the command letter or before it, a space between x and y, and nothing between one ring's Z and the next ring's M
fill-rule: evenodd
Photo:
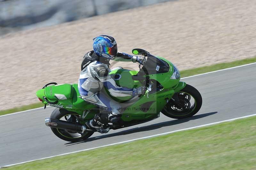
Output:
M174 116L186 116L196 108L196 100L188 92L180 91L178 94L180 105L177 106L172 99L164 106L164 111Z

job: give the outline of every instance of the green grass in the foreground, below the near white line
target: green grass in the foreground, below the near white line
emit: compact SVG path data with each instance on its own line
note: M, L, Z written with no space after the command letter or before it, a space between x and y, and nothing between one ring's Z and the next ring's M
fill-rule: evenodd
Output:
M255 121L254 116L6 169L256 169Z

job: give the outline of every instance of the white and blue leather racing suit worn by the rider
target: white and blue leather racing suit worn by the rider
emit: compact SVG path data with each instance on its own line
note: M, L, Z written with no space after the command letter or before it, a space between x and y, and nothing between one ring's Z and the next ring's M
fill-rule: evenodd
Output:
M115 61L136 62L136 58L137 56L118 52ZM101 91L103 86L114 97L135 96L138 94L135 88L117 86L115 80L108 74L110 72L109 61L96 55L93 50L84 55L81 70L78 90L82 99L108 108L108 111L111 110L112 114L120 114L121 112L118 111L118 108L121 105L102 92L103 90Z

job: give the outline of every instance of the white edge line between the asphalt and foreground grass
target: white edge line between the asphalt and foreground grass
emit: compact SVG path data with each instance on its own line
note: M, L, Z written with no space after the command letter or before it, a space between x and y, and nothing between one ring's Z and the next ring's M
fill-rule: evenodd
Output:
M222 120L222 121L208 123L208 124L199 125L199 126L194 126L194 127L190 127L190 128L178 129L178 130L174 130L174 131L170 131L170 132L165 132L165 133L160 133L160 134L156 134L156 135L140 137L140 138L131 139L131 140L123 141L123 142L111 143L111 144L107 144L107 145L102 145L102 146L97 146L97 147L93 147L93 148L88 148L88 149L80 150L80 151L73 151L73 152L63 153L63 154L54 155L54 156L50 156L50 157L33 159L33 160L29 160L29 161L25 161L25 162L20 162L20 163L16 163L16 164L5 165L5 166L2 166L2 167L14 166L14 165L24 164L24 163L28 163L28 162L33 162L33 161L36 161L36 160L42 160L42 159L47 159L47 158L54 158L54 157L57 157L57 156L69 155L69 154L72 154L72 153L77 153L77 152L82 152L82 151L89 151L89 150L103 148L103 147L112 146L112 145L116 145L116 144L137 141L137 140L140 140L140 139L146 139L146 138L150 138L150 137L171 134L171 133L174 133L174 132L179 132L179 131L184 131L184 130L189 130L189 129L194 129L194 128L201 128L201 127L205 127L205 126L209 126L209 125L215 125L215 124L219 124L219 123L223 123L223 122L233 121L233 120L237 120L237 119L243 119L243 118L252 117L252 116L256 116L256 114L250 114L250 115L247 115L247 116L242 116L242 117L228 119L228 120Z

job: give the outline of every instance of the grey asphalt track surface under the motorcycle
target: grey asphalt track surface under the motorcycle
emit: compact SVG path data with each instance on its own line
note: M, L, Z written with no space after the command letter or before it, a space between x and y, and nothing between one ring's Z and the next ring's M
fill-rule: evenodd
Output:
M173 130L190 128L255 113L256 64L183 79L203 97L200 111L175 120L160 114L144 124L94 133L88 140L71 143L56 137L44 124L53 107L0 117L0 166L72 151L123 142Z

